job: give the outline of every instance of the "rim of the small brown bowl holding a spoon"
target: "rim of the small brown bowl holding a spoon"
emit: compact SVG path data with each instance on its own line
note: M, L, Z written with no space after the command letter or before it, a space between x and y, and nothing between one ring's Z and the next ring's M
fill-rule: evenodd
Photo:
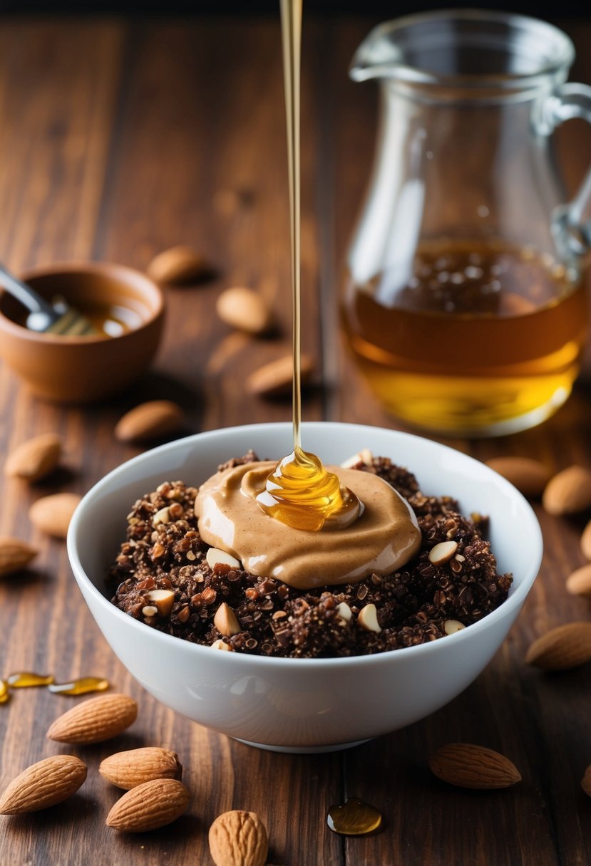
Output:
M19 325L17 322L10 319L0 306L0 329L10 333L16 339L24 339L30 342L42 343L47 346L95 346L97 343L110 342L114 339L125 339L132 334L141 333L146 327L152 326L155 321L158 321L165 307L165 298L162 289L158 283L151 279L143 271L137 268L131 268L129 265L122 265L119 262L85 262L84 260L72 260L68 262L52 262L49 265L38 265L35 268L26 268L19 272L23 281L35 280L37 277L52 276L58 274L98 274L111 277L125 283L128 286L140 286L142 292L146 289L152 295L153 308L149 310L149 315L146 319L140 322L137 327L130 328L129 331L119 334L116 337L107 336L107 334L97 334L96 336L89 335L87 337L77 337L66 334L39 333L37 331L29 331L28 328ZM0 295L10 292L3 288L0 284Z

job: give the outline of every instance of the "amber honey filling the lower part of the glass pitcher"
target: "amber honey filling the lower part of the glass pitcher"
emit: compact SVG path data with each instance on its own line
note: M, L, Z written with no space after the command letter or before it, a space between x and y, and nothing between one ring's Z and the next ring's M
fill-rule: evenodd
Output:
M422 242L406 281L349 280L348 342L386 409L450 434L509 433L568 397L586 336L573 270L502 242Z

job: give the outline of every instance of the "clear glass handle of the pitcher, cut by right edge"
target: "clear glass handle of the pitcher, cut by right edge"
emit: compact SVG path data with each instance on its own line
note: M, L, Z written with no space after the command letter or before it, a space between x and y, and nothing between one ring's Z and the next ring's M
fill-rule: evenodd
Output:
M541 132L548 134L576 117L591 123L591 87L569 81L546 101ZM564 258L580 257L591 249L591 168L575 197L556 208L553 230Z

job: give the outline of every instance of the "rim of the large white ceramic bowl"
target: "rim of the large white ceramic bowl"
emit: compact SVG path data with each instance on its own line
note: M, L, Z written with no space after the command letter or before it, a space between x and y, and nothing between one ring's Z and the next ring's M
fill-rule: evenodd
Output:
M341 668L344 666L349 667L365 667L367 665L378 666L380 667L383 664L396 664L401 663L404 658L408 658L411 654L414 656L419 656L420 654L424 654L428 656L432 652L437 652L442 648L442 644L447 644L448 641L454 641L459 643L460 641L472 640L477 637L477 634L483 632L484 630L488 630L493 628L497 621L503 619L507 614L511 611L517 609L519 611L521 605L525 601L529 590L534 584L537 574L540 569L540 565L542 563L542 551L543 551L543 540L542 540L542 528L537 520L536 513L534 509L531 507L527 499L521 494L511 483L503 478L502 475L499 475L494 469L490 469L484 462L477 460L475 457L464 454L462 451L458 451L458 449L453 449L448 445L443 443L439 443L432 439L427 439L425 436L418 436L413 433L406 433L406 431L402 430L390 430L384 427L378 427L368 424L355 424L355 423L346 423L346 422L336 422L336 421L315 421L315 422L304 422L302 423L302 433L305 433L307 430L312 431L315 428L321 427L335 427L335 428L347 428L358 430L360 433L364 431L367 434L371 435L373 431L379 430L381 433L386 432L388 434L392 434L393 436L400 438L402 441L417 441L420 440L423 443L427 443L428 448L433 449L443 449L444 453L452 453L454 456L459 455L460 459L465 460L469 464L476 464L478 467L478 471L484 471L485 475L490 475L491 478L494 478L495 483L499 485L503 490L507 493L510 493L511 497L515 498L519 505L523 508L524 516L526 520L529 521L529 526L524 527L527 528L527 537L529 540L529 544L532 546L532 556L530 558L530 565L528 571L523 576L519 585L516 586L515 591L511 592L509 596L505 599L503 604L500 604L499 607L495 611L491 611L482 619L478 620L477 623L473 623L470 626L467 626L465 629L459 630L451 635L446 635L445 638L438 638L437 640L430 641L429 643L420 643L411 647L401 647L398 650L386 650L384 652L373 653L367 656L340 656L336 658L285 658L285 657L277 657L277 656L256 656L250 653L222 653L218 652L218 657L224 659L222 663L237 663L238 665L261 665L263 669L266 669L268 665L272 668L281 668L285 667L286 669L291 669L292 672L294 669L298 670L307 670L314 669L316 671L328 668ZM233 427L225 427L218 430L205 430L200 433L192 434L192 436L184 436L180 439L175 439L170 443L165 443L163 445L159 445L153 449L148 449L147 451L142 452L140 455L134 456L131 459L123 462L120 466L112 469L107 475L101 478L100 481L97 481L96 484L88 493L85 494L78 506L75 508L75 512L70 520L70 524L68 527L68 537L67 537L67 550L68 550L68 559L70 562L70 566L72 571L74 572L76 582L80 586L84 584L88 591L90 591L91 595L95 598L98 604L101 605L101 608L111 616L115 617L115 622L119 621L122 625L127 624L128 628L132 628L132 630L140 629L140 636L147 636L147 626L144 623L140 623L138 620L133 619L127 613L120 611L112 602L102 594L102 592L98 589L97 586L94 585L93 581L88 577L87 573L84 571L84 568L81 565L80 556L78 554L78 544L77 544L77 534L79 532L80 523L82 519L82 515L88 504L94 501L94 498L101 494L105 489L111 488L113 483L115 484L119 481L121 475L125 475L127 470L133 466L141 466L142 463L149 463L153 460L154 456L159 456L162 454L166 454L167 452L174 451L179 448L186 448L189 443L197 443L199 441L204 441L205 439L212 439L214 437L220 436L220 434L228 434L231 435L238 430L240 431L250 431L253 436L256 436L257 430L270 430L271 432L276 433L285 433L286 431L291 430L292 424L291 422L271 422L271 423L252 423L252 424L239 424ZM494 551L493 551L494 553ZM169 646L171 649L176 646L178 650L184 650L189 653L196 654L196 660L199 659L200 656L205 658L203 654L207 654L211 652L211 647L207 647L200 643L192 643L191 641L183 640L180 637L176 637L173 635L168 635L165 632L158 631L155 629L151 629L150 632L153 634L153 639L157 642L162 643L163 647ZM171 642L172 643L169 643ZM180 646L179 646L180 643ZM189 649L191 648L191 649ZM399 659L397 662L396 659Z

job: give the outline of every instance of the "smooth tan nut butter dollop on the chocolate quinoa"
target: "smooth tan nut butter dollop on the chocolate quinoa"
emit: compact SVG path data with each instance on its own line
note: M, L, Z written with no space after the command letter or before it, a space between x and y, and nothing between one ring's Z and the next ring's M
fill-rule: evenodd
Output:
M201 538L240 559L251 574L309 590L388 574L419 551L419 526L406 500L378 475L357 469L330 467L363 503L347 527L312 532L265 514L256 496L275 465L224 469L202 484L195 501Z

